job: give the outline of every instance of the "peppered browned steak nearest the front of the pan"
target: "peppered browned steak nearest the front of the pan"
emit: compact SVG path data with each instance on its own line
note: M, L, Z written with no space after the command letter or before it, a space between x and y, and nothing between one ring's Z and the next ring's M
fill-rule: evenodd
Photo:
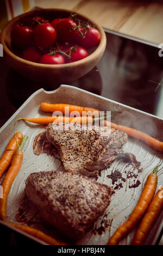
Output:
M48 223L77 240L109 205L114 190L80 174L48 171L30 174L25 192Z

